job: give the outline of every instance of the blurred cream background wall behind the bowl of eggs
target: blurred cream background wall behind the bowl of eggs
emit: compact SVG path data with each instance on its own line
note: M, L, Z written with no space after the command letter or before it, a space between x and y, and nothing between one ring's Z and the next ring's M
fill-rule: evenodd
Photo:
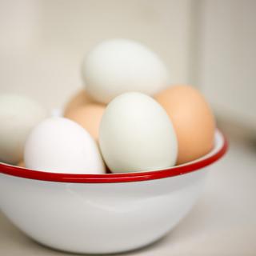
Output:
M0 0L0 89L61 107L94 44L131 38L173 83L198 86L221 120L255 134L255 10L254 0Z

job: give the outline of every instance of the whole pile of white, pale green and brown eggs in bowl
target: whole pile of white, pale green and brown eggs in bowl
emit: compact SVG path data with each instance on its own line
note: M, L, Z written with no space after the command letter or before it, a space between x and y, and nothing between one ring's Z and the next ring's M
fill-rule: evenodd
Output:
M0 95L0 161L55 173L126 173L166 169L212 150L210 106L192 86L172 85L146 46L102 42L86 55L82 78L85 89L62 117L33 99Z

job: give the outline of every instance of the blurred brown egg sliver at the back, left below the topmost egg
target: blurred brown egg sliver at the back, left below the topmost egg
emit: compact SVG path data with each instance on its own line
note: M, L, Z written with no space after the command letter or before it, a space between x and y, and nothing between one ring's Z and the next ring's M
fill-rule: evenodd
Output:
M86 93L86 90L80 90L70 99L70 102L66 104L64 115L68 114L70 111L73 111L78 106L85 106L86 104L92 102L94 102L94 100L90 98L90 96Z

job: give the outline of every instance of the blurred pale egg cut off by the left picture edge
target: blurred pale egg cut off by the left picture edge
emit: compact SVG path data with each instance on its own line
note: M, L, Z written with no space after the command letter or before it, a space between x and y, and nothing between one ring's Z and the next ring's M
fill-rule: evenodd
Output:
M0 161L16 164L30 130L46 118L38 102L18 94L0 95Z

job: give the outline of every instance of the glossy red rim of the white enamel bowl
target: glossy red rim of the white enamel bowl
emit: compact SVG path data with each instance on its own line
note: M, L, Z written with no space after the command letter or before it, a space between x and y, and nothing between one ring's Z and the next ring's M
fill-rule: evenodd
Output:
M216 162L226 153L228 142L223 134L217 131L222 138L222 145L214 154L212 151L206 154L205 157L198 158L193 162L188 162L181 166L170 167L165 170L151 170L134 173L120 174L61 174L51 173L39 170L30 170L23 167L11 166L0 162L0 173L16 176L19 178L29 178L46 182L69 182L69 183L115 183L115 182L141 182L149 181L158 178L168 178L187 174L195 170L200 170L203 167L209 166Z

